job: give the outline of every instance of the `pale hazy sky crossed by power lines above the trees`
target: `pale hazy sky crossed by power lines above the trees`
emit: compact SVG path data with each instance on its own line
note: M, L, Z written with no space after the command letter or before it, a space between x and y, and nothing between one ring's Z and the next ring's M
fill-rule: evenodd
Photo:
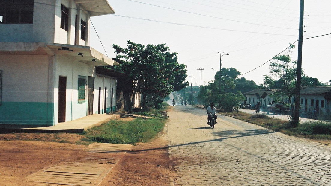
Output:
M113 44L126 47L127 40L145 46L165 43L170 52L178 53L178 62L187 65L190 84L200 85L202 78L206 85L214 79L219 71L217 53L229 54L222 55L222 68L235 68L242 74L239 78L256 84L263 83L263 75L270 75L267 61L294 42L291 58L298 58L300 0L108 2L115 14L91 18L96 31L90 30L90 46L113 58ZM331 33L330 7L330 0L306 0L304 5L304 39L320 37L304 40L302 68L323 83L331 80L331 35L321 36Z

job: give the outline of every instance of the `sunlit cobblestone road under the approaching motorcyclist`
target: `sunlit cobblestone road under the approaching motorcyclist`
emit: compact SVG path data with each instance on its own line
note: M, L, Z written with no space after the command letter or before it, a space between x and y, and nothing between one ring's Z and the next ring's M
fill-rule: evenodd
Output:
M207 127L204 109L168 112L174 185L331 186L331 148L218 115Z

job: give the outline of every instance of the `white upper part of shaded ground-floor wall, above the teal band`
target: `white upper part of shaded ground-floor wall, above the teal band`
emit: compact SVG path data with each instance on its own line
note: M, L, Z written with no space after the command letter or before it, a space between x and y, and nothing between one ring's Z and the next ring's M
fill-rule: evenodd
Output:
M48 102L47 55L0 55L2 101Z

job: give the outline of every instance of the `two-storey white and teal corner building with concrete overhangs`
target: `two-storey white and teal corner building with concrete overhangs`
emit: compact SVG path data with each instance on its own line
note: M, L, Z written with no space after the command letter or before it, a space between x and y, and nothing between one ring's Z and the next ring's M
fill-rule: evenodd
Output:
M0 1L0 124L54 126L116 109L118 63L89 47L107 0Z

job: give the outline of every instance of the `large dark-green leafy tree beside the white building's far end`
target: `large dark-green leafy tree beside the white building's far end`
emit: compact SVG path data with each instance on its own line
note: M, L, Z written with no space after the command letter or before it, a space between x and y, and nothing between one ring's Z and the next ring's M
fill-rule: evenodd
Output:
M128 74L134 81L133 97L138 91L143 92L143 106L147 93L163 98L188 85L184 82L187 77L185 65L177 62L177 53L170 53L166 44L144 46L128 41L126 48L115 44L113 48L117 57L123 60L116 70Z

